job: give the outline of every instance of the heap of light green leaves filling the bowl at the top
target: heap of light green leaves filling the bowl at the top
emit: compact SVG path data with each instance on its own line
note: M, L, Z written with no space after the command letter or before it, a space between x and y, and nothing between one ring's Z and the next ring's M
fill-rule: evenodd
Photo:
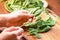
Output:
M37 8L40 9L43 7L44 3L41 0L9 0L6 3L6 8L12 12L15 10L21 9L30 9L30 8Z

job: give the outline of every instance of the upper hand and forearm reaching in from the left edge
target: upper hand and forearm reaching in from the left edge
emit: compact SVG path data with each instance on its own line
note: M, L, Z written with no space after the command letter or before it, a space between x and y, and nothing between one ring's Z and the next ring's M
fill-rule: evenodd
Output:
M28 14L25 10L14 11L10 14L0 14L0 27L20 26L30 18L33 18L33 15Z

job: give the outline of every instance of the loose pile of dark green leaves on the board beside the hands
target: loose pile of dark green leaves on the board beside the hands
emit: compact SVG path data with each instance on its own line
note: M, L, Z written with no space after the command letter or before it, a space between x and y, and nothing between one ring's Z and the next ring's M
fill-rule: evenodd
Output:
M36 11L35 13L33 12L36 19L34 19L32 22L27 21L23 24L23 26L28 27L27 30L31 35L35 35L37 38L40 38L39 33L47 32L50 30L51 27L55 25L55 21L48 15L47 10L45 10L46 18L44 20L41 19L40 13Z

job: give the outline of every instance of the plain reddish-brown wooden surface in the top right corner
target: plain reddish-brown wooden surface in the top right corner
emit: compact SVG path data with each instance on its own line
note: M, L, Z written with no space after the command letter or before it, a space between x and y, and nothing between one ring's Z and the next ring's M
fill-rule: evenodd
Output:
M60 0L46 0L49 4L49 8L60 16Z

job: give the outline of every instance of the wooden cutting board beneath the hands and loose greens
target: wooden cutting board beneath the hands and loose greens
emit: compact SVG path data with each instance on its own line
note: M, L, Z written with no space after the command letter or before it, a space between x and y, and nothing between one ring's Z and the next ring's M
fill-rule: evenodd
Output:
M6 14L9 13L4 8L4 2L0 3L0 14ZM26 36L28 40L60 40L60 20L57 19L57 16L54 15L54 13L51 14L51 16L56 20L55 26L51 28L50 31L46 33L40 33L41 39L37 39L36 37L32 36ZM27 32L25 32L27 34Z

